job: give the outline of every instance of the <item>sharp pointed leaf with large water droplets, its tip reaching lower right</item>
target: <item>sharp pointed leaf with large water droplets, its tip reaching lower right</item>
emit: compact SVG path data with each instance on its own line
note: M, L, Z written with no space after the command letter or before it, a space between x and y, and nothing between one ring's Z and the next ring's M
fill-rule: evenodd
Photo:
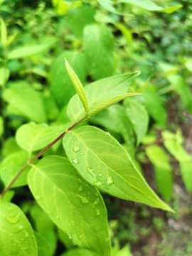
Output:
M171 210L147 185L125 149L96 127L68 132L63 147L80 175L105 193Z

